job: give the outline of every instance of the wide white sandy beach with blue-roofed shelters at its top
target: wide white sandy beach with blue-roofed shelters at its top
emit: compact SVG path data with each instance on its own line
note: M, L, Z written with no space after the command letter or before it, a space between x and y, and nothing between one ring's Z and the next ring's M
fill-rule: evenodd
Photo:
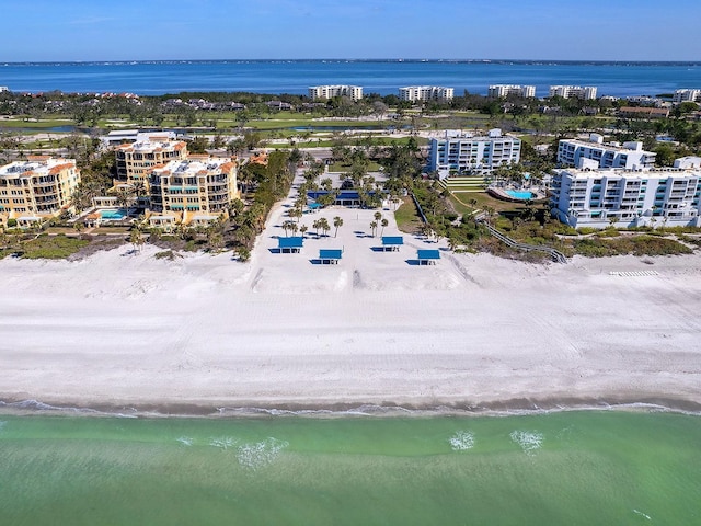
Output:
M437 265L416 266L416 248L436 243L405 235L401 251L372 251L374 211L345 208L302 219L342 216L337 238L310 228L302 253L273 253L285 211L273 210L246 264L129 245L0 261L0 400L701 404L700 255L536 265L441 250ZM384 233L398 233L383 214ZM319 248L343 248L343 260L312 264Z

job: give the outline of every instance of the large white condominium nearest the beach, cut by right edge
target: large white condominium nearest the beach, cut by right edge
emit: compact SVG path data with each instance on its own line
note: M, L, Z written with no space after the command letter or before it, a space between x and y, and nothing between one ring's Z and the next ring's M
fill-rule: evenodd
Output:
M701 170L556 170L551 205L573 227L700 226Z

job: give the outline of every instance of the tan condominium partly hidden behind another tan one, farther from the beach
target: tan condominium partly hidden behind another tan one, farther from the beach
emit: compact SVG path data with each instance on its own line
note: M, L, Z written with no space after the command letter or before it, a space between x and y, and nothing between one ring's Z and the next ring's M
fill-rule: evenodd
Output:
M146 136L130 145L115 149L117 179L129 184L148 185L149 172L169 161L187 158L187 145L166 136Z

